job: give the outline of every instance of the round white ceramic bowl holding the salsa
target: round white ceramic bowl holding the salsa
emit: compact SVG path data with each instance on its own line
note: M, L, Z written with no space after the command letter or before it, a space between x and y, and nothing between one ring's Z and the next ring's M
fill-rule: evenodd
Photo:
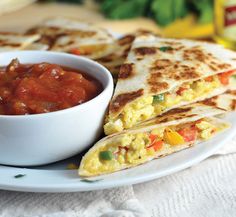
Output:
M0 164L48 164L92 145L101 135L113 92L109 71L83 57L46 51L1 53L0 66L8 65L13 58L21 63L49 62L79 69L98 79L103 91L92 100L69 109L34 115L0 115Z

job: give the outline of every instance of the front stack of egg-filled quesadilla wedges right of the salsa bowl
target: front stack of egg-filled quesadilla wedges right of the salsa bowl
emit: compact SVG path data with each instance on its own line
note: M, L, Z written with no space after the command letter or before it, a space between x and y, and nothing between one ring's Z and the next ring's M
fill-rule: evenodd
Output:
M227 129L214 116L235 109L235 57L210 43L136 36L105 120L109 136L85 154L79 175L134 167Z

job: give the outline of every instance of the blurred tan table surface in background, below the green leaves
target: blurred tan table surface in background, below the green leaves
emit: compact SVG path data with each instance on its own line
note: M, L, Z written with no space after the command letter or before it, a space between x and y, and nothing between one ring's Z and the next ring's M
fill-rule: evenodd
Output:
M1 15L0 31L25 31L42 20L54 16L78 18L118 33L128 33L139 28L145 28L156 33L160 32L156 23L147 18L114 21L104 18L95 6L56 3L34 3L18 11Z

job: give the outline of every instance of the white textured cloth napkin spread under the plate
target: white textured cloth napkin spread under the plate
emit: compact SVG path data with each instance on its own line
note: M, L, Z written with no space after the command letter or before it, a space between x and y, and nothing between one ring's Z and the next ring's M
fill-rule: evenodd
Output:
M135 186L79 193L0 191L0 217L235 217L236 137L182 172Z

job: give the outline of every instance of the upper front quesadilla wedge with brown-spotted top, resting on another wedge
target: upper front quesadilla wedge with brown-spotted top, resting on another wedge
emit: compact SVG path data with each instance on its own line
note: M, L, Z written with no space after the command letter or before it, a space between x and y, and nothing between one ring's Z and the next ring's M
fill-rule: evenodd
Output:
M225 92L236 53L206 42L140 35L134 40L105 120L106 135L170 109Z

